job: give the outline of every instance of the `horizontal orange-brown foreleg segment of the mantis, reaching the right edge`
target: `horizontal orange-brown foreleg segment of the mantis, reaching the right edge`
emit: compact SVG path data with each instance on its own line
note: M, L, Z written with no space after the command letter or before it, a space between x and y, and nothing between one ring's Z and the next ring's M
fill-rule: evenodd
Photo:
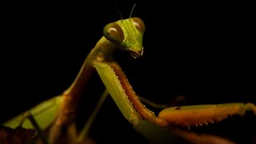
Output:
M162 110L158 118L178 126L202 126L209 122L221 121L231 115L244 115L252 110L256 114L253 103L225 103L218 105L176 106Z

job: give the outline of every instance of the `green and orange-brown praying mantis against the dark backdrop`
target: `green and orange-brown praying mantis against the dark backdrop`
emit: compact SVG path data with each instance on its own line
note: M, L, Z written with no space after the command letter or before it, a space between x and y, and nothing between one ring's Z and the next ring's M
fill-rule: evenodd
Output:
M61 96L54 97L48 102L43 102L43 105L30 111L34 114L34 118L41 129L43 131L49 130L48 141L50 143L56 142L62 134L62 129L69 127L73 123L82 89L90 82L90 74L95 70L102 78L102 82L119 110L134 127L142 120L153 122L158 126L194 126L226 118L226 116L233 114L243 115L246 110L253 110L254 114L256 113L256 108L252 103L231 103L171 107L162 110L156 117L152 111L146 109L142 102L139 101L118 63L114 62L113 59L116 49L129 51L134 58L142 56L144 30L144 22L140 18L122 19L106 25L103 30L104 36L87 56L78 77L70 88ZM44 120L45 116L49 118ZM22 116L19 118L22 118ZM11 119L4 125L10 127L18 126L21 121L19 118ZM34 127L26 119L22 126Z

